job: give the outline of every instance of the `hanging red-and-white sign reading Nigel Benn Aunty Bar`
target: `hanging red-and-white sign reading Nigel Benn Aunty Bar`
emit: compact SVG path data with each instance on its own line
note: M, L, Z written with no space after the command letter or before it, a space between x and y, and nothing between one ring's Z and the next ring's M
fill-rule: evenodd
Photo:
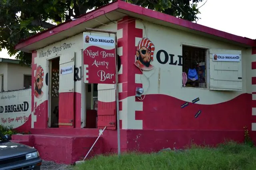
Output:
M114 34L83 33L84 82L116 83L116 41Z

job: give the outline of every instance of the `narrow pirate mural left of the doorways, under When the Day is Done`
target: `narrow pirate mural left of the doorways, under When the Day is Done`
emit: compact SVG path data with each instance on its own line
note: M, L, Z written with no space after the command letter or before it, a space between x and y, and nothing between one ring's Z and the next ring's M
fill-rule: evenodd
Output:
M44 95L44 92L42 91L43 88L43 80L44 80L44 70L42 66L37 66L36 68L36 76L35 76L35 82L34 82L34 96L36 98L40 99Z

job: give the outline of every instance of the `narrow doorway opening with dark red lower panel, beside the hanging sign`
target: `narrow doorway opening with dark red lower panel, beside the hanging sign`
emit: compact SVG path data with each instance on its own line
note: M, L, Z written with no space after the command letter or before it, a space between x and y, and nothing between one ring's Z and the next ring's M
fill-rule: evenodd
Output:
M86 125L85 128L97 128L98 120L98 84L85 84L86 100L85 100L85 114Z

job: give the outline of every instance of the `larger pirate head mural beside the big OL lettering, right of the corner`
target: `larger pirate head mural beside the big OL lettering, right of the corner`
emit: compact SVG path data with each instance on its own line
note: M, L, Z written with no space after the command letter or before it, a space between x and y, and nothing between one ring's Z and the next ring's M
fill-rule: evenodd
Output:
M142 38L136 49L136 61L135 65L142 70L152 70L153 55L155 46L148 38Z

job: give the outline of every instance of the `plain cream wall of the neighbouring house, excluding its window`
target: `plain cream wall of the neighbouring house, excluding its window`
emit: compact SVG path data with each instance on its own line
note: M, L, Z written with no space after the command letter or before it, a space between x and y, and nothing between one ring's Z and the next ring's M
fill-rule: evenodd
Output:
M0 63L0 75L2 74L4 74L4 91L20 90L24 86L24 74L31 75L31 67L13 63ZM0 80L2 81L1 78Z

